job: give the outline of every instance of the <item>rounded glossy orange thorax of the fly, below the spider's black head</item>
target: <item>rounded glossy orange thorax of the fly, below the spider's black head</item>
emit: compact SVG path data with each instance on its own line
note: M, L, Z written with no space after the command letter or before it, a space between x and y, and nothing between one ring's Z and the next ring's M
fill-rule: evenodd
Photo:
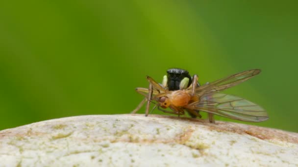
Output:
M189 104L191 96L186 90L176 90L172 92L171 96L169 96L169 99L174 106L185 106Z

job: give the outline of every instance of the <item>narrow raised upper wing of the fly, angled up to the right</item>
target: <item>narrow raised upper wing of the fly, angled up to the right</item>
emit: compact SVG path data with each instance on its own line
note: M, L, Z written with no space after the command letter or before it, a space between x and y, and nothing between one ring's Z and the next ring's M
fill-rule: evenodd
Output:
M217 80L215 82L199 86L196 88L196 93L202 94L202 93L223 90L223 89L235 86L237 84L240 84L240 83L254 77L255 75L259 74L260 72L261 72L260 69L252 69L252 70L248 70L248 71L243 71L243 72L228 76L224 79Z

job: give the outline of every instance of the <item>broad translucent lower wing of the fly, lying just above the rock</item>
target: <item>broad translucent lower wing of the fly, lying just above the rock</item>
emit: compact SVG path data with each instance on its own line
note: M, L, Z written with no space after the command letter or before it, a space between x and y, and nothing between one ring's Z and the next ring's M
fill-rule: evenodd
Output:
M187 108L248 122L261 122L269 118L267 112L259 105L222 93L205 94L198 102L189 104Z

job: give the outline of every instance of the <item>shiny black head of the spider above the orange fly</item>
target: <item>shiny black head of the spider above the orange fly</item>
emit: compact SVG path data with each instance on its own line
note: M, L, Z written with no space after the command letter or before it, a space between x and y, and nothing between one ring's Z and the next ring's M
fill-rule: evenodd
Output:
M185 77L189 79L188 86L191 84L192 77L188 74L188 71L186 70L172 68L169 69L167 73L169 90L179 90L179 84Z

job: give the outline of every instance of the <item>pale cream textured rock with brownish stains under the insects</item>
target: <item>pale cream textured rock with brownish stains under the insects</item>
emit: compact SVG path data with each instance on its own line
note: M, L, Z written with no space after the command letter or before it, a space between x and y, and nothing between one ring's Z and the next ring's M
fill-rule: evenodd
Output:
M0 131L0 167L298 166L298 133L162 115L88 115Z

